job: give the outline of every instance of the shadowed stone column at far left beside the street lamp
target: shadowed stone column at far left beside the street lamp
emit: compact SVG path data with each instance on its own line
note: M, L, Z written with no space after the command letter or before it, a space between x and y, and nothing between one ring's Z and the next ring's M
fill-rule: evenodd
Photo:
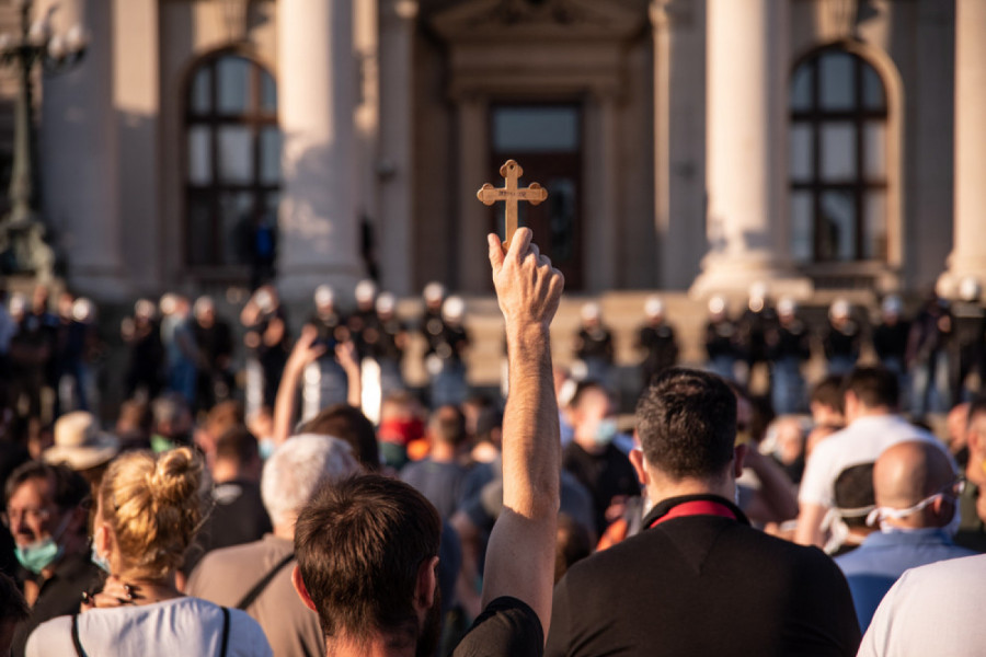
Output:
M123 266L112 92L112 5L60 0L56 35L83 30L85 57L69 71L43 77L38 151L42 215L68 265L72 289L102 301L129 296ZM36 5L36 15L48 10Z

